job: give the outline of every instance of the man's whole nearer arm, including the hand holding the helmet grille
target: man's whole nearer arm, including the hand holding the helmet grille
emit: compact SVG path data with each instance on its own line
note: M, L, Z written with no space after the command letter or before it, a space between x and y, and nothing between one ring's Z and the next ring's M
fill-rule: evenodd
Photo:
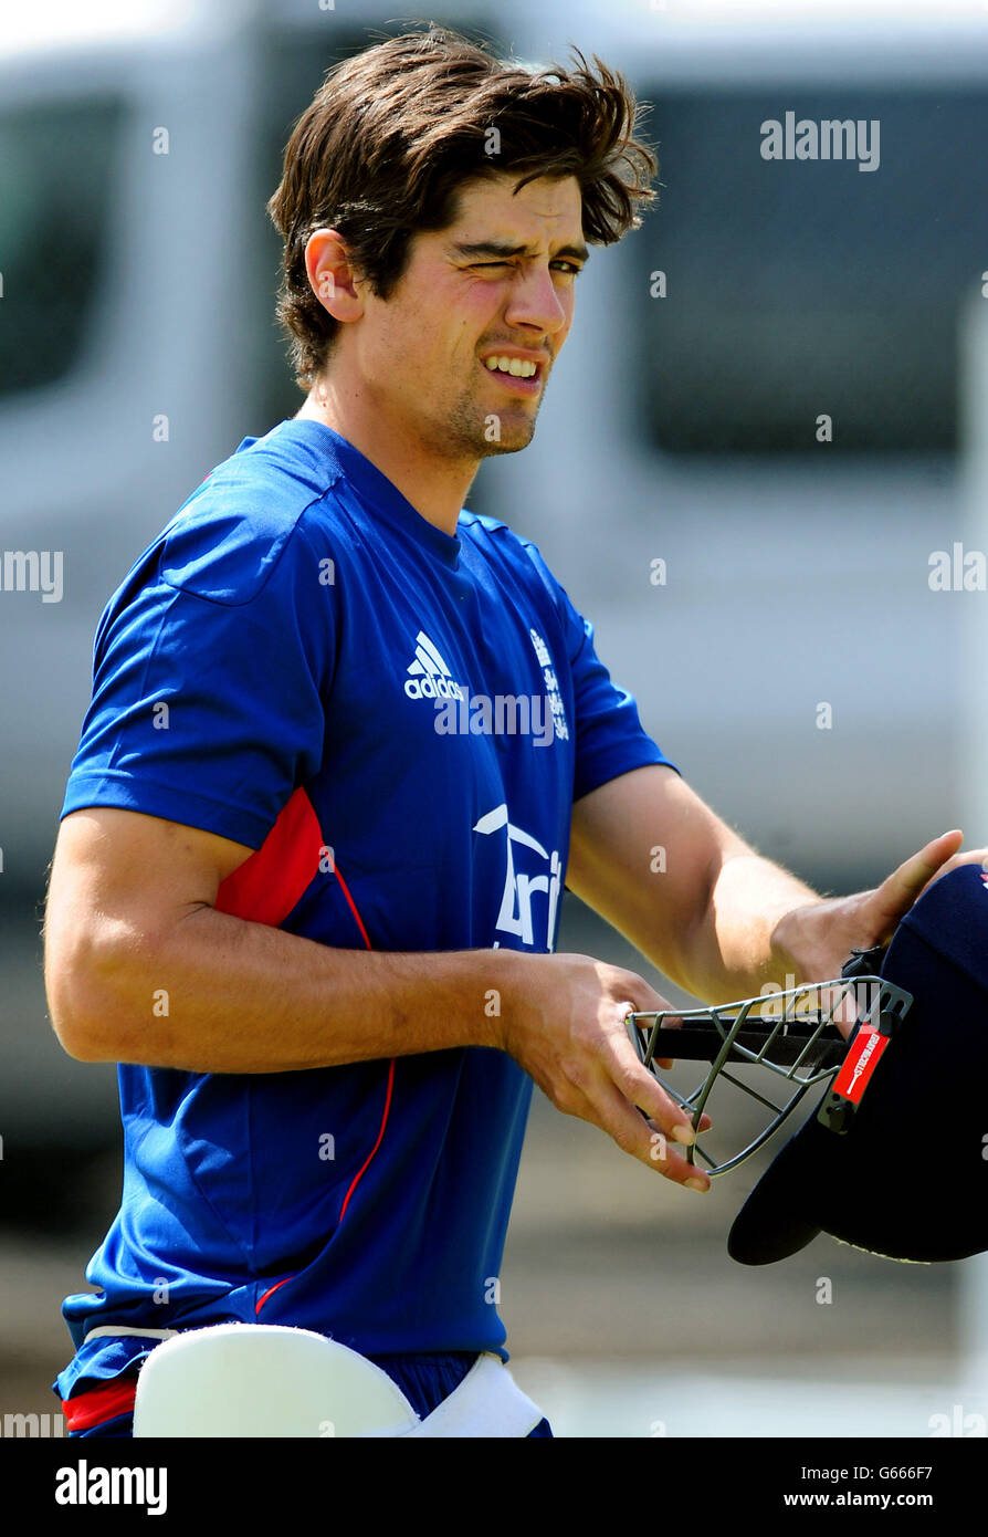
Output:
M280 1073L498 1047L564 1113L601 1127L668 1179L708 1187L671 1147L656 1157L655 1130L671 1142L691 1142L693 1133L624 1030L630 1008L667 1007L639 976L590 956L507 948L337 950L218 913L221 881L252 851L111 807L63 819L48 895L45 984L71 1056L195 1073ZM489 1007L492 990L496 1008Z

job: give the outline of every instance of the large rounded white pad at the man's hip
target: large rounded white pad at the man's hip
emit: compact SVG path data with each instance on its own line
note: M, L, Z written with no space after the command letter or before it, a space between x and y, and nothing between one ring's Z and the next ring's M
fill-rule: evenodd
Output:
M134 1436L406 1436L419 1419L387 1373L309 1330L217 1323L141 1366Z

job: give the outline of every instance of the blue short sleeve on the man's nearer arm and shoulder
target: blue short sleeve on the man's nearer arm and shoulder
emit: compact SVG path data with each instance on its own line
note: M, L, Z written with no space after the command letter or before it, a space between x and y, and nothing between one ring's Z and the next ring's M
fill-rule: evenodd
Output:
M103 613L61 816L114 805L260 848L323 761L333 563L301 521L166 535Z

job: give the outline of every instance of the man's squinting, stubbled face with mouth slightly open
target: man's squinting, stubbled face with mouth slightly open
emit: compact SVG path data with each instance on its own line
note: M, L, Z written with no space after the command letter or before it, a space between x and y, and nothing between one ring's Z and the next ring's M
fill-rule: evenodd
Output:
M412 240L390 298L366 290L353 326L358 387L432 453L481 460L524 449L572 320L587 260L575 177L469 181L453 224ZM532 378L492 372L489 358L538 364ZM332 364L330 364L332 367Z

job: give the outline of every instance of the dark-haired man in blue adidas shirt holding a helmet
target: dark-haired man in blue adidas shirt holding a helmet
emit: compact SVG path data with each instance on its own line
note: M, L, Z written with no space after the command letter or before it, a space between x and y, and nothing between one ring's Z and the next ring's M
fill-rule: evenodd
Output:
M724 1001L836 974L957 851L821 901L687 787L538 550L463 510L533 435L587 243L651 197L596 68L430 29L330 74L270 203L306 403L103 615L46 915L60 1041L121 1064L123 1202L63 1310L74 1434L131 1432L177 1330L315 1331L421 1416L504 1357L532 1081L708 1188L622 1024L664 999L553 953L564 881Z

